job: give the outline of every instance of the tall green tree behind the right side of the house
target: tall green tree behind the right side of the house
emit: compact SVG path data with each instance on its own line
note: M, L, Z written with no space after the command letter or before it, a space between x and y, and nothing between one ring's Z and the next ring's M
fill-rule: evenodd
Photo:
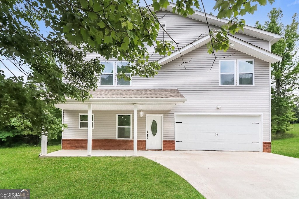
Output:
M271 64L271 128L275 135L289 131L291 122L296 120L293 112L295 106L293 90L298 88L299 83L299 61L296 57L299 33L296 13L292 17L292 23L286 26L280 23L280 18L283 16L280 8L273 8L268 16L269 21L264 25L257 21L256 27L284 35L284 38L271 47L273 53L282 56L282 61Z

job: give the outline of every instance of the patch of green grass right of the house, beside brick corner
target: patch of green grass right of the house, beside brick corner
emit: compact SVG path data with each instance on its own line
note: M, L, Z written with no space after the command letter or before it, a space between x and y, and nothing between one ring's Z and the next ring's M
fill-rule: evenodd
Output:
M272 153L299 158L299 124L292 126L282 138L272 136Z

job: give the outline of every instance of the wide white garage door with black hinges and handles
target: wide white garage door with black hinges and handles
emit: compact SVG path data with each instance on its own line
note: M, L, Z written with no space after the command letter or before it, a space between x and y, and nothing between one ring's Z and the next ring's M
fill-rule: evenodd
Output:
M260 151L260 115L176 115L176 150Z

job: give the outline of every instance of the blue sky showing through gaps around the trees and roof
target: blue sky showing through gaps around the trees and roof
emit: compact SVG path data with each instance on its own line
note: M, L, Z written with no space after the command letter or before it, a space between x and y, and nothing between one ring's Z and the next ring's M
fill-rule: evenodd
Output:
M175 1L176 0L174 0L174 2ZM149 3L151 2L150 0L147 0L147 2L148 4L151 4ZM215 2L216 1L214 0L203 0L205 10L207 13L212 12L214 15L217 15L217 11L213 11L212 9L215 5ZM267 14L274 7L281 8L283 11L283 18L281 19L281 22L283 24L290 24L292 22L292 16L294 15L294 13L296 12L299 13L299 0L275 0L275 2L272 5L267 4L266 6L259 6L257 11L253 15L246 14L242 18L245 19L246 24L249 26L254 26L256 21L260 21L261 24L264 24L264 22L268 20ZM41 30L45 30L45 28L41 28ZM14 75L24 76L22 72L17 70L16 67L10 64L8 61L4 61L4 63L6 63L6 65L10 68L10 70L14 73ZM1 63L0 63L0 70L4 70L4 74L6 76L13 76L4 66L2 66ZM27 71L28 69L24 67L24 70Z

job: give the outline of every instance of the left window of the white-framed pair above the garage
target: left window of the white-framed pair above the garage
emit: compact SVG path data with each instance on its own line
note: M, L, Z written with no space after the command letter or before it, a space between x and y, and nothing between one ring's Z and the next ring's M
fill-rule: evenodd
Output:
M220 60L219 68L219 85L236 85L236 61Z

